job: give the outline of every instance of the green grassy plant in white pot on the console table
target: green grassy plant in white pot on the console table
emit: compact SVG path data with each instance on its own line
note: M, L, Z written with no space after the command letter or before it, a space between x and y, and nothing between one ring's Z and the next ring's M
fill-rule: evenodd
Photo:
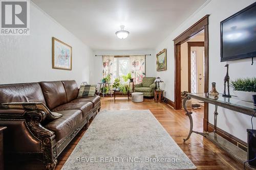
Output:
M230 82L233 92L242 101L252 102L252 95L256 94L256 78L239 78Z

